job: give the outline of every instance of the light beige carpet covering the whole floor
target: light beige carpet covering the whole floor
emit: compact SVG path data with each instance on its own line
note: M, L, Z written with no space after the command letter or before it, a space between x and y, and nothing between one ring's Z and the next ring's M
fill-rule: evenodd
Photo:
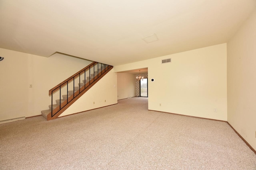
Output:
M0 169L256 169L256 154L227 123L147 108L147 98L130 98L0 124Z

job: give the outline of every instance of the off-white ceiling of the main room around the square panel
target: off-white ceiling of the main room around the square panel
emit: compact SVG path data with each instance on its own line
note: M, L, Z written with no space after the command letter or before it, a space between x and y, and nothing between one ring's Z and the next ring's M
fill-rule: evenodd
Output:
M256 0L0 0L0 48L110 65L226 43ZM142 38L156 34L159 41Z

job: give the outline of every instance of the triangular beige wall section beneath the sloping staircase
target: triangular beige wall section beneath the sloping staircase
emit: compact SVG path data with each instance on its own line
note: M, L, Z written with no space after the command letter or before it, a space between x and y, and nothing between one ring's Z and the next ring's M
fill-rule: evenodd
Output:
M92 88L81 96L74 104L66 109L61 115L70 115L90 109L117 104L117 75L110 70ZM106 100L106 102L105 102ZM94 102L94 103L93 103Z

